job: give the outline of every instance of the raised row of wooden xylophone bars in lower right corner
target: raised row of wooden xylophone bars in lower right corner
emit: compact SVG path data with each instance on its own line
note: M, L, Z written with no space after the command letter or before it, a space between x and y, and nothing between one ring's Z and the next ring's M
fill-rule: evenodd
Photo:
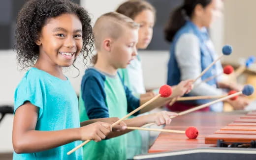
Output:
M256 148L256 111L235 119L232 123L205 137L205 144L251 146Z

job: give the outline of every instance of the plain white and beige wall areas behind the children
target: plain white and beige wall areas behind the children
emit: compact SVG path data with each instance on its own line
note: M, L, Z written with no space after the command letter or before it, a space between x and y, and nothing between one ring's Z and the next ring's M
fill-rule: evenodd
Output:
M83 0L82 5L92 14L93 22L95 22L98 16L115 10L123 1L124 0ZM255 0L225 0L225 7L227 8L225 11L226 15L224 19L214 24L211 33L218 52L220 52L224 43L233 45L234 53L226 58L226 61L237 63L237 57L246 58L248 55L256 55L254 52L256 20L254 20L252 16L256 15L256 10L253 8L255 5ZM225 28L223 25L225 25ZM140 51L139 54L143 61L142 67L146 88L155 88L164 84L166 82L167 73L166 65L169 58L168 51ZM80 76L75 79L71 77L76 76L76 70L69 68L66 71L66 75L70 78L76 93L79 93L81 78L85 70L81 59L78 60L78 67L80 69ZM256 68L256 66L254 67ZM23 75L23 71L17 70L15 53L13 51L0 51L0 105L13 104L15 87L22 79ZM13 116L8 115L0 123L0 152L12 151L12 119Z

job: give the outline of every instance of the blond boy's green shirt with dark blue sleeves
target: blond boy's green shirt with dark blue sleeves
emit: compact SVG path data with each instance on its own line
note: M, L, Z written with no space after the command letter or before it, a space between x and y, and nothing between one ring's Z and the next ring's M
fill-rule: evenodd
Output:
M94 118L119 117L139 107L119 75L111 76L89 68L81 83L79 98L80 121ZM127 135L91 141L83 147L84 160L126 160Z

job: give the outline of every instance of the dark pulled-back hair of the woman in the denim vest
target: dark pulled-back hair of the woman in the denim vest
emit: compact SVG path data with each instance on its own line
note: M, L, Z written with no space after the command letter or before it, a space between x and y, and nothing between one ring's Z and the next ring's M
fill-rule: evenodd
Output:
M165 39L169 42L173 40L174 35L185 25L186 20L192 18L197 4L201 4L205 8L211 2L212 0L184 0L183 5L170 14L170 19L164 29Z

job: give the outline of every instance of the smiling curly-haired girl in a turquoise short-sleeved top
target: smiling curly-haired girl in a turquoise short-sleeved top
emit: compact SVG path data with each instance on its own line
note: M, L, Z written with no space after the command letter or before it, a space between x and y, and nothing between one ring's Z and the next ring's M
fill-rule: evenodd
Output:
M15 91L13 160L82 160L82 149L66 153L80 140L111 135L110 123L118 118L80 127L77 96L63 74L79 53L90 53L90 23L87 11L69 0L29 0L21 9L15 49L19 64L31 68Z

